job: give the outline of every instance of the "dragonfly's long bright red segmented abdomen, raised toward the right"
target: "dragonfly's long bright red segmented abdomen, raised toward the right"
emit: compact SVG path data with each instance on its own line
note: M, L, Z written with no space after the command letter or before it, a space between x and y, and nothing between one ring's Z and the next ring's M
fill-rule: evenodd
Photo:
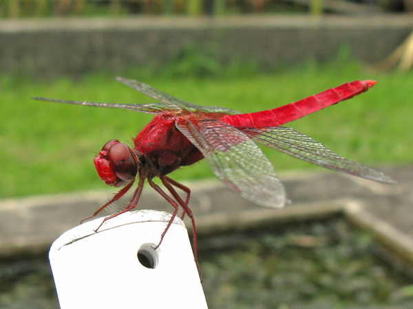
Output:
M348 100L354 97L354 95L367 91L374 84L376 84L374 80L356 80L355 82L342 84L339 87L328 89L295 103L257 113L226 115L221 120L235 127L282 126L287 122L292 122L332 104Z

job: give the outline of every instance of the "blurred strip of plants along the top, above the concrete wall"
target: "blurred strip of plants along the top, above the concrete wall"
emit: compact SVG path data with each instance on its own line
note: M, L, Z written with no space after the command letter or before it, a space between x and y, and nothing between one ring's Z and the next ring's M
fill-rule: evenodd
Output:
M131 15L242 15L242 14L365 14L411 12L410 0L307 1L307 0L5 0L3 18L45 16Z

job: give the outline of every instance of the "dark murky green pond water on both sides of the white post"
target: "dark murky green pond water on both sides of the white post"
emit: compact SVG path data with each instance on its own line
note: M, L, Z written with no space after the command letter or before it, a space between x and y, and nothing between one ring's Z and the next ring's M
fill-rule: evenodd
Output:
M204 237L198 247L210 309L413 308L413 279L341 218ZM0 308L59 308L46 254L1 262Z

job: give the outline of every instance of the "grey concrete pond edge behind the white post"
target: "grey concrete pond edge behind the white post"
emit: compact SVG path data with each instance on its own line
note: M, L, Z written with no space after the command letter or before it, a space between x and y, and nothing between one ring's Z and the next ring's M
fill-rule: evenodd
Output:
M319 196L315 196L313 199L308 198L309 201L302 200L286 205L283 209L266 209L251 205L244 198L239 198L219 181L198 181L191 185L193 187L191 209L194 212L198 236L257 229L270 225L288 225L293 222L328 220L340 216L351 225L372 233L374 239L387 252L385 254L388 258L385 260L413 277L413 237L410 231L403 230L403 224L410 225L411 216L408 214L411 205L409 200L411 194L408 192L412 192L410 182L402 187L392 187L394 189L383 187L380 195L377 184L360 183L359 179L340 174L336 176L328 173L297 173L292 176L286 174L280 178L286 184L287 192L293 191L295 186L302 189L303 184L306 183L309 186L317 183L319 187L319 183L331 185L337 182L338 187L347 189L352 185L361 187L366 196L358 196L356 192L354 197L348 198L350 195L347 193L341 194L340 197L339 192L332 192L330 196L338 195L338 197L319 199ZM368 190L368 186L371 190ZM312 190L314 191L312 187L308 188L308 192ZM144 201L140 201L142 202L140 209L143 207L165 210L165 201L156 192L144 191L142 194ZM78 225L80 218L92 213L110 196L112 192L78 192L0 200L0 258L10 259L21 255L27 257L47 253L52 242L61 233ZM395 196L407 196L407 200L406 198L401 200L403 203L390 200ZM299 196L294 196L292 199L299 200ZM219 205L214 209L212 206L217 204L217 201L220 201ZM391 204L385 205L388 208L386 211L390 211L390 214L395 216L400 204L399 213L402 214L401 218L405 218L405 222L399 225L397 220L392 221L392 216L385 211L374 213L381 207L377 201L382 201L384 205ZM148 203L151 207L145 207ZM109 209L110 213L114 211L116 209ZM398 220L400 221L400 218ZM186 219L185 224L191 233L191 222Z

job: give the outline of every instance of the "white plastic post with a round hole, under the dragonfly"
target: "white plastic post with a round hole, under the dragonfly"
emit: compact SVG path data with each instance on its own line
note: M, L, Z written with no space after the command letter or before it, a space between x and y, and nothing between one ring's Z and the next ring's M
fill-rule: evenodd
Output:
M61 308L207 308L182 220L173 220L152 249L170 218L129 211L97 233L103 218L63 233L49 253Z

